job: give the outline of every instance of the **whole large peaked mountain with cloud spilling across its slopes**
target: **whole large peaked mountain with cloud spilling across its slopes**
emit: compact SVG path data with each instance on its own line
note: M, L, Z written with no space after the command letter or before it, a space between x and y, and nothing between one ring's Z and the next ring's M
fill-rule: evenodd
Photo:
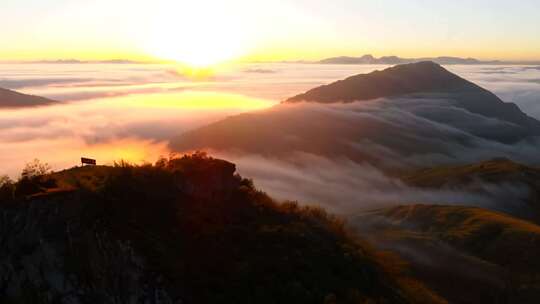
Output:
M305 102L301 102L305 101ZM540 163L540 122L432 62L352 76L171 140L175 151L345 157L379 168Z

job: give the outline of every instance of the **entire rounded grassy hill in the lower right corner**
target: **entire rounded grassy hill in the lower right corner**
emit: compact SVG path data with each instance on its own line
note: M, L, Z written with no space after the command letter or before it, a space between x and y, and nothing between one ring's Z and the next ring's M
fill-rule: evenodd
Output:
M351 222L452 303L536 303L540 226L476 207L411 205ZM450 284L450 282L452 282Z

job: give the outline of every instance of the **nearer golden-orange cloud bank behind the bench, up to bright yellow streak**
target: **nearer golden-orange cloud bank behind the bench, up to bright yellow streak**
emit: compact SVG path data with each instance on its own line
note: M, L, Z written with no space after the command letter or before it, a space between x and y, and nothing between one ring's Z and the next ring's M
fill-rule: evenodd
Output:
M220 100L220 103L212 102ZM168 140L228 115L268 106L234 94L146 94L53 106L0 110L0 175L17 177L35 158L61 170L91 157L153 162L167 156Z

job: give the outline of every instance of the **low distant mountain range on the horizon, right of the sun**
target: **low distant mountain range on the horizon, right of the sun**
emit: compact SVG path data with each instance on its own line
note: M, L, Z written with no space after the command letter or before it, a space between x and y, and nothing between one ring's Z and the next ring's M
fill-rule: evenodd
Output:
M433 61L438 64L499 64L500 61L481 61L475 58L460 58L460 57L425 57L425 58L401 58L397 56L383 56L375 58L372 55L364 55L361 57L339 56L326 58L318 63L323 64L404 64L421 61Z

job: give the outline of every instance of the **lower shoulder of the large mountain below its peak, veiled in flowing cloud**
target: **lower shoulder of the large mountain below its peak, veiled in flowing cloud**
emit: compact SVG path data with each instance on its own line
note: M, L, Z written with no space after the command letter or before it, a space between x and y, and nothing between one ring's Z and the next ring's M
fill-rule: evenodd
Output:
M386 169L495 157L539 164L540 138L525 137L523 131L512 123L467 112L451 99L423 96L350 104L283 104L187 133L173 141L173 147L265 156L303 151Z

